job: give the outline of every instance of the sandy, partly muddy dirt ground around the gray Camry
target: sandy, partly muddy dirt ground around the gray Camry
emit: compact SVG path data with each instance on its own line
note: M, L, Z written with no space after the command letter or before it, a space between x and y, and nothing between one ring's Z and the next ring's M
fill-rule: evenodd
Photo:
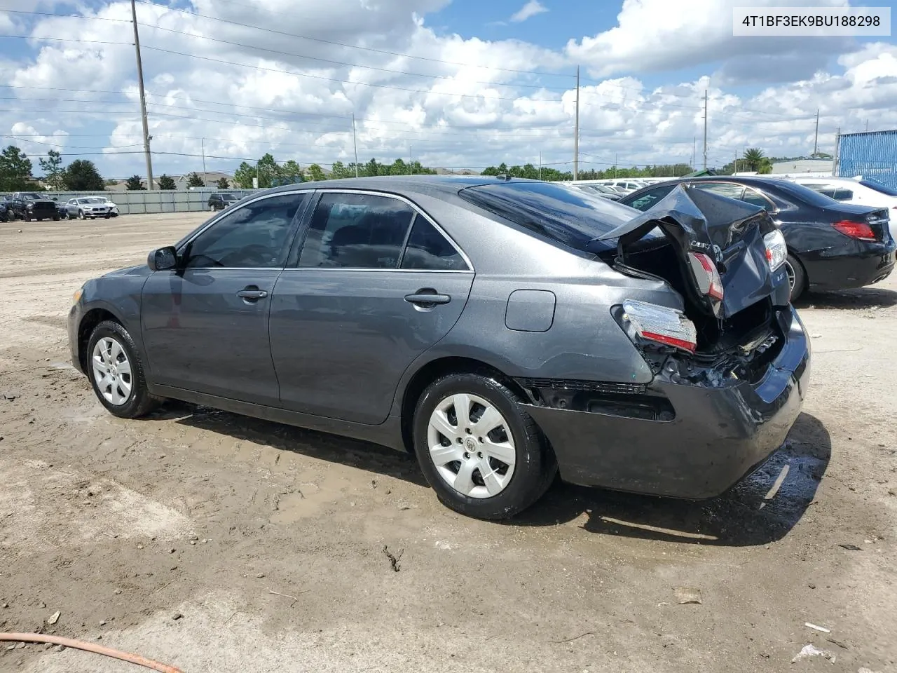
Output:
M897 278L801 303L804 414L730 494L556 484L485 523L374 445L183 404L105 412L67 364L72 293L204 217L0 223L0 632L185 673L897 670ZM791 663L807 644L832 660ZM0 670L136 669L0 643Z

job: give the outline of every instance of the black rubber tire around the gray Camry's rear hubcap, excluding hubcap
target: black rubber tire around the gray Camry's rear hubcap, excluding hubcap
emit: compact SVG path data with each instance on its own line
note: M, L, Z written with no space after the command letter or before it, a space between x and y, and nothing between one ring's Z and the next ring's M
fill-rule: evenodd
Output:
M512 435L517 454L514 471L509 483L492 497L475 498L457 491L440 476L431 458L427 445L431 414L442 400L457 393L475 395L494 406ZM557 461L542 431L520 406L520 401L513 391L488 374L449 374L433 381L423 391L414 410L414 453L427 482L449 509L475 519L509 519L536 503L548 490L557 474Z

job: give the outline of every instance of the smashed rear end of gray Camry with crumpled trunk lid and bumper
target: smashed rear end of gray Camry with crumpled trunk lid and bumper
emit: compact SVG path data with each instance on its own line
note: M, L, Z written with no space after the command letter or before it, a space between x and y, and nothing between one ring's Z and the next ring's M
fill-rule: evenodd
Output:
M677 187L590 247L666 291L610 307L649 382L527 381L562 476L694 499L726 491L779 448L805 395L809 344L788 302L781 232L760 208Z

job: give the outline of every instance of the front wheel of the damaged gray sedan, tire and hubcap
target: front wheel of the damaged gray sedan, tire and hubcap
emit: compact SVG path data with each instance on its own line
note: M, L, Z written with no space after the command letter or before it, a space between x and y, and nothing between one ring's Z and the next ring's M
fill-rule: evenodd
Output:
M146 415L159 402L150 395L134 340L118 322L105 320L91 333L87 366L100 404L120 418Z

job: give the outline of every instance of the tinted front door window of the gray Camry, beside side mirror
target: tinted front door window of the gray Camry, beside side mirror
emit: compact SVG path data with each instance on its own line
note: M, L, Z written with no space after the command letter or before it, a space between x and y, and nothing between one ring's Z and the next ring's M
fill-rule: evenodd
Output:
M282 267L290 247L292 220L306 194L268 197L228 211L187 243L187 267Z

